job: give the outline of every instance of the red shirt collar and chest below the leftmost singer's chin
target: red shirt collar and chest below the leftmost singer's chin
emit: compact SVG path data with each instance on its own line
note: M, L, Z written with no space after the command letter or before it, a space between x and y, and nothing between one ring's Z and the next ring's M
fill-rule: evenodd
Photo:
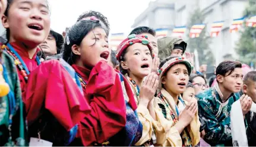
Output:
M26 48L24 47L20 47L20 45L18 45L17 43L10 43L11 46L14 48L15 51L17 51L17 53L20 55L20 57L22 58L22 60L24 61L24 63L26 64L27 68L29 69L29 71L33 71L38 65L36 62L36 54L38 51L40 51L39 48L37 48L36 53L34 53L33 57L30 59L29 58L29 53L27 51ZM26 89L26 81L24 80L24 77L21 74L21 71L18 70L18 77L20 79L20 86L21 86L21 92L22 92L22 97L24 97L24 92Z

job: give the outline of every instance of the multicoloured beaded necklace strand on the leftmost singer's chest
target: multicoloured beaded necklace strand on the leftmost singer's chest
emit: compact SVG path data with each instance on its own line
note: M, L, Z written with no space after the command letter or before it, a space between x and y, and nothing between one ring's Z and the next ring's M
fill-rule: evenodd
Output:
M20 55L17 53L17 51L14 50L14 48L9 43L7 45L2 45L1 48L2 50L7 51L7 53L11 55L11 57L14 59L14 64L17 66L18 70L20 70L21 75L23 76L24 80L27 83L27 81L29 80L28 75L30 74L30 71L29 71L29 68L27 68L24 61L22 60L22 58L20 57ZM37 62L37 65L40 64L40 60L38 56L36 56L36 62Z

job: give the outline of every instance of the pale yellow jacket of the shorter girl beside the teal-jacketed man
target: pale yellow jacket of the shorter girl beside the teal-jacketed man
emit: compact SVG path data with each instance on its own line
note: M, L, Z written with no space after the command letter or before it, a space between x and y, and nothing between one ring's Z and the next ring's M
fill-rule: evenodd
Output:
M178 116L176 109L175 109L176 104L175 104L172 96L170 96L170 94L165 89L162 89L161 93L166 98L172 111L175 113L176 116ZM163 103L163 101L159 97L156 97L156 102L157 102L157 105L165 106L165 112L163 112L163 108L160 109L160 107L159 107L159 109L163 112L164 118L165 118L164 115L166 115L165 120L167 120L171 124L170 130L176 130L176 128L174 126L175 123L173 122L172 117L170 116L169 108L166 106L165 103ZM184 102L185 102L185 104L187 104L186 101L184 101ZM179 111L178 113L182 113L182 110L184 108L185 108L184 104L182 102L179 102L178 103L178 111ZM188 137L190 138L190 139L188 139L189 142L192 143L192 146L197 145L200 142L200 121L199 121L199 117L198 117L198 112L195 114L195 117L192 120L192 122L185 129L187 129L187 131L188 131L188 135L189 135ZM176 131L178 132L178 130L176 130ZM179 135L179 133L178 133L178 135L174 135L174 134L168 135L168 134L169 134L169 132L167 133L167 140L165 143L163 143L163 146L182 146L182 136Z

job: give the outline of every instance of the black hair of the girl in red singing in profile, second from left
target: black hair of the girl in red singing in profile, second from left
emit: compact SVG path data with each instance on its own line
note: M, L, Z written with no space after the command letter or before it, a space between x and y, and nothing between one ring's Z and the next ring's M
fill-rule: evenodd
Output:
M72 53L72 45L80 45L83 38L94 28L103 28L99 21L83 20L74 24L69 28L64 41L63 59L69 64L74 64L77 55ZM103 28L104 29L104 28ZM106 31L106 30L105 30ZM95 39L96 43L96 39ZM94 44L95 44L94 43ZM94 45L92 44L92 45Z

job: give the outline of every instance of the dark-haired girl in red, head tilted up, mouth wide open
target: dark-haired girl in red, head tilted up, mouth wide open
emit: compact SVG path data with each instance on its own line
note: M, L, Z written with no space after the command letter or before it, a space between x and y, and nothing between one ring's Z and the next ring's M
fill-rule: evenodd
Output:
M65 38L63 58L80 77L91 113L81 119L74 146L134 146L141 136L136 103L125 78L108 64L106 28L91 17L73 25Z

